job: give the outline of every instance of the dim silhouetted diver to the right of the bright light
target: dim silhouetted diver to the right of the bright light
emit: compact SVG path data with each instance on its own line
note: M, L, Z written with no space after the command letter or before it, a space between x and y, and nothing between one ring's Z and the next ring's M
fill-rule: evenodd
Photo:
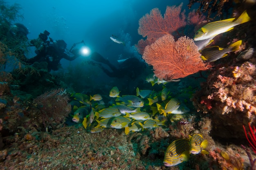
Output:
M109 71L101 64L97 64L109 77L123 78L125 75L127 75L131 79L136 79L136 77L138 77L146 68L146 64L144 62L139 61L139 59L135 57L126 59L119 65L118 68L111 64L107 59L105 59L102 55L100 55L97 52L91 54L91 59L96 62L101 62L103 64L108 65L112 71Z

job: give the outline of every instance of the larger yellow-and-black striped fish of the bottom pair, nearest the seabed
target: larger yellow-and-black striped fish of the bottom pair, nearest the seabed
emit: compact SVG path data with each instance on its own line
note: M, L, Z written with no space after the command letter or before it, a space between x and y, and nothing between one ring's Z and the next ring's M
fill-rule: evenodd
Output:
M175 166L189 160L189 140L178 139L173 141L164 153L164 165Z

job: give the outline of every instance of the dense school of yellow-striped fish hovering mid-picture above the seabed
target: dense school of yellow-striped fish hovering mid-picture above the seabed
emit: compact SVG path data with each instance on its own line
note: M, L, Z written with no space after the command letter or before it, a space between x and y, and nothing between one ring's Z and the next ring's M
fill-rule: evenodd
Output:
M136 95L119 96L120 92L116 86L110 90L109 96L115 97L116 103L109 107L105 106L100 94L90 97L81 93L72 94L72 121L82 123L92 133L116 128L124 129L127 135L130 131L164 126L169 115L189 112L178 99L171 98L170 90L165 86L159 93L139 88Z

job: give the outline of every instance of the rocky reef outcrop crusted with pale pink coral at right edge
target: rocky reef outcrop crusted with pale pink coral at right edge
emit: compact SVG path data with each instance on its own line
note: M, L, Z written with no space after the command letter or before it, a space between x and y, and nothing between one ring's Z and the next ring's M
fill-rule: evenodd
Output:
M211 113L213 136L244 139L243 124L255 125L255 73L254 60L218 68L196 93L193 102L198 111Z

